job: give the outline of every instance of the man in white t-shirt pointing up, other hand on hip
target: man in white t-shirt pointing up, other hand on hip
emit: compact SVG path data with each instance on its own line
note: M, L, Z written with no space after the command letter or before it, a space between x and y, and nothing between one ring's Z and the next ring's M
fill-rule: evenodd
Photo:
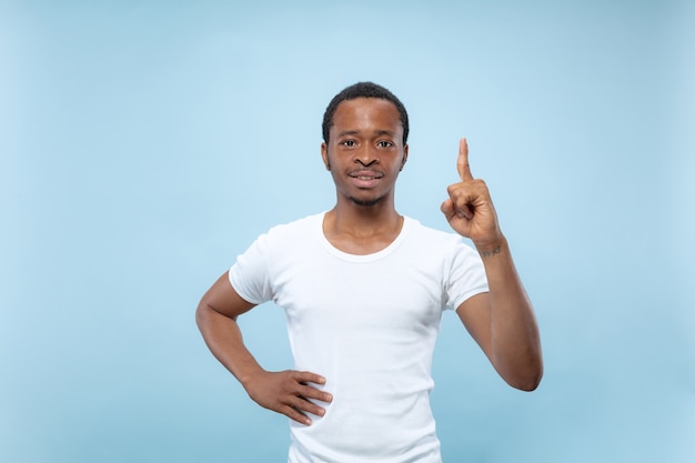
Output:
M335 207L259 236L198 308L218 360L251 399L291 419L292 463L441 461L429 396L445 308L508 384L532 391L541 381L533 309L465 139L461 182L441 208L456 233L445 233L396 212L407 132L405 108L383 87L335 95L321 144ZM286 312L291 371L263 370L236 324L270 300Z

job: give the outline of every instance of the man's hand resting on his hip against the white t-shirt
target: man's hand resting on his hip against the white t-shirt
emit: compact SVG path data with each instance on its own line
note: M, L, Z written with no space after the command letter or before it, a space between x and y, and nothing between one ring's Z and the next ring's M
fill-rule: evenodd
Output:
M306 413L323 416L325 409L310 402L309 399L325 403L333 400L330 393L311 386L310 383L325 384L325 379L314 373L292 370L262 371L244 382L244 387L249 396L264 409L310 425L311 419L306 416Z

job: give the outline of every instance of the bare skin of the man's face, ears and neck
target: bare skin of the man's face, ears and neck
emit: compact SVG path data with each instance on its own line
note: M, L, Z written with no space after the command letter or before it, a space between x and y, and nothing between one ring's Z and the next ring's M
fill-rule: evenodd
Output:
M326 239L352 254L370 254L391 244L403 225L394 197L396 179L407 161L393 103L375 98L340 103L329 141L321 144L321 157L336 191L336 204L323 222Z

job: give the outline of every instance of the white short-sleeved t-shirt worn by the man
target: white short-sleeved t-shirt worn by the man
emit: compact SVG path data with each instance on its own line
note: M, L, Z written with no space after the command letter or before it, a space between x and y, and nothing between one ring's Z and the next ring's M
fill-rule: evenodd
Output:
M440 462L432 354L442 311L487 291L480 255L410 218L386 249L348 254L323 217L274 227L229 273L244 300L284 309L294 369L333 394L311 426L290 421L289 462Z

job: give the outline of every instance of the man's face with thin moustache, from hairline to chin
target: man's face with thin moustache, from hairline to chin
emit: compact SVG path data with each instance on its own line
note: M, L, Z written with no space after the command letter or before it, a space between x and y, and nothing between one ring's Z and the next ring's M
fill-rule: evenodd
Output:
M389 100L356 98L338 105L321 155L340 197L360 205L393 199L407 159L399 110Z

